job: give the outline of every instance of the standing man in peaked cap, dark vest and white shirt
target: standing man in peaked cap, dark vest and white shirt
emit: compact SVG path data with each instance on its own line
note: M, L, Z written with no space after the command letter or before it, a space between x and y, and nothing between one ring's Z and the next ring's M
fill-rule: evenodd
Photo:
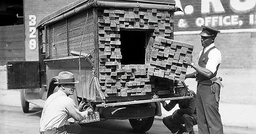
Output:
M186 74L185 78L196 78L198 82L196 109L199 134L223 134L221 116L218 112L219 100L215 100L211 82L221 64L221 52L214 44L215 37L220 31L204 25L202 28L199 35L204 48L200 51L198 65L192 62L191 57L184 58L183 63L195 69L195 72Z

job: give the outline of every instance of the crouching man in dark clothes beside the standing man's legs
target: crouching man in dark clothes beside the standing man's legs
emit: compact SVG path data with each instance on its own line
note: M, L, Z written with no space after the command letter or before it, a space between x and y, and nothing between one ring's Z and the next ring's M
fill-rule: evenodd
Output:
M193 98L172 100L169 104L162 101L163 108L166 111L172 110L176 104L179 104L180 109L177 109L172 115L164 117L163 123L172 133L183 134L189 132L189 134L195 134L193 125L197 125L196 109L195 109L195 92L187 91L185 88L178 88L176 93L177 96L186 96L187 94L193 94ZM185 126L183 126L183 124Z

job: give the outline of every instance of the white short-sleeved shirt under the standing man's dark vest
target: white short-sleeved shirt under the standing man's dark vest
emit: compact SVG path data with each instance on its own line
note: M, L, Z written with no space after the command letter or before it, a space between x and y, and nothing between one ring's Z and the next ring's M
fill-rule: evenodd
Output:
M214 46L215 46L214 43L207 46L204 50L204 53ZM201 56L202 51L203 50L200 51L199 57ZM221 51L219 51L218 48L212 49L211 51L209 51L208 58L209 59L207 61L205 68L207 68L209 71L211 71L214 74L218 64L221 63Z

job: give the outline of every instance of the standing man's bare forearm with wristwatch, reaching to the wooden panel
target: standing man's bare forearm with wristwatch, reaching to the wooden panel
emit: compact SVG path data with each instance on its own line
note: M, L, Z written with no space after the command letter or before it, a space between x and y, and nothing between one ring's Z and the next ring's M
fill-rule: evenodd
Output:
M188 66L192 66L192 59L189 57L185 57L183 63L185 63ZM209 71L207 68L203 68L201 66L198 66L197 64L194 63L192 66L197 73L203 74L205 77L211 78L213 73Z

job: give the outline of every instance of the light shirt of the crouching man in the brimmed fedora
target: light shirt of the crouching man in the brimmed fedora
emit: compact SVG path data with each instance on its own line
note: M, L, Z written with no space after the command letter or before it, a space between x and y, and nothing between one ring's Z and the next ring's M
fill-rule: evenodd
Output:
M52 130L67 124L67 119L73 117L82 120L87 117L87 111L79 111L75 101L58 90L50 95L44 103L39 131Z

